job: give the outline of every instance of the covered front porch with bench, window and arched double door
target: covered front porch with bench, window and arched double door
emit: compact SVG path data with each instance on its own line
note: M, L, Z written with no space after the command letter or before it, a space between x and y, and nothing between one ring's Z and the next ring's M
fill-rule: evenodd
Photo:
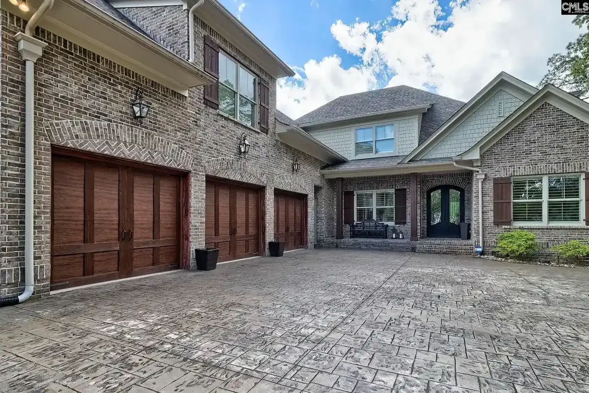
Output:
M428 167L370 176L339 171L336 236L320 246L472 255L472 171L451 160Z

